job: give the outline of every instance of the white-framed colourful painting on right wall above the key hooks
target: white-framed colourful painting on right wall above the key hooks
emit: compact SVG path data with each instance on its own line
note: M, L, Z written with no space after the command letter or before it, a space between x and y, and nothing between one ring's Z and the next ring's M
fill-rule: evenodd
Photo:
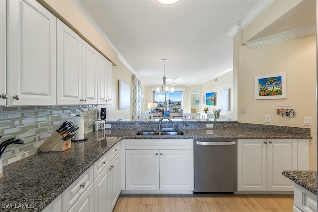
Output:
M255 99L286 99L286 73L255 76Z

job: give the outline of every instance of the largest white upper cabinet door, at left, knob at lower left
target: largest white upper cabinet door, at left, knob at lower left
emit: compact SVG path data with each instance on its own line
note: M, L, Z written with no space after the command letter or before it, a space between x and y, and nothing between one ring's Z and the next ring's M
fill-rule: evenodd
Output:
M55 105L56 18L35 0L6 3L7 104Z

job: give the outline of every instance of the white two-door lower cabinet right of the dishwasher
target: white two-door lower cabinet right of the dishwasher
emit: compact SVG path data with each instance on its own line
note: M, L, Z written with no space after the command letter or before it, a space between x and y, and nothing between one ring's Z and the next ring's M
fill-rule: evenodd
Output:
M308 170L308 143L297 139L239 139L238 191L293 191L293 182L282 171Z

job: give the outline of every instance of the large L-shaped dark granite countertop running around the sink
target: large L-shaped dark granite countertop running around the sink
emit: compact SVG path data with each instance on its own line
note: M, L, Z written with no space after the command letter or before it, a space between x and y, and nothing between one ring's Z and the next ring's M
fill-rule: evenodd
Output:
M236 122L230 122L236 123ZM134 123L133 125L134 126ZM1 204L34 204L41 211L83 172L92 166L115 143L123 139L191 138L191 139L310 139L308 133L273 132L241 128L179 129L178 136L140 136L138 129L93 131L85 136L88 141L72 142L64 152L39 152L3 167L0 179ZM106 136L106 137L105 137ZM0 207L0 211L14 211ZM15 209L21 211L21 209Z

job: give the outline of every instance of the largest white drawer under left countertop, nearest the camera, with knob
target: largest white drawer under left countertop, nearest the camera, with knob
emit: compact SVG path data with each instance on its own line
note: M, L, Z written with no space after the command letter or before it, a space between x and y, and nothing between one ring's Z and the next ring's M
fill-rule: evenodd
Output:
M62 211L68 211L79 199L80 195L93 182L94 169L91 166L62 193Z

